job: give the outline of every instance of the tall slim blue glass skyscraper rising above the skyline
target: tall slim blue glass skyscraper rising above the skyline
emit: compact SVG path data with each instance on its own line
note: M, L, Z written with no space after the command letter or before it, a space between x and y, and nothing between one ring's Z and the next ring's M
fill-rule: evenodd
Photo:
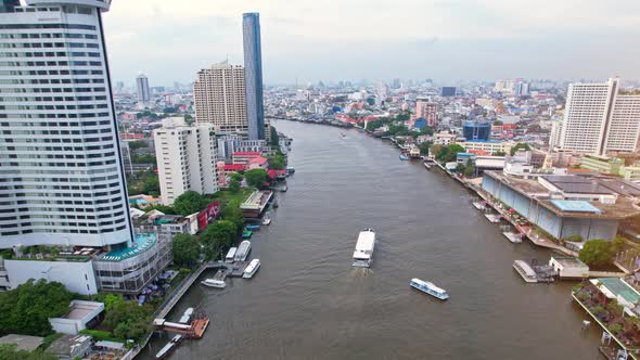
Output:
M260 14L242 15L246 117L248 138L265 139L265 106L263 99L263 50L260 44Z

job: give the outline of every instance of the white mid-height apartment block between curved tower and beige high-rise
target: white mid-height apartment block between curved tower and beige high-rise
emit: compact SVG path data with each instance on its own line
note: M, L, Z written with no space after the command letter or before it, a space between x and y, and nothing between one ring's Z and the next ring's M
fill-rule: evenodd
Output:
M187 191L218 191L217 140L210 124L166 124L153 130L163 204L171 205Z

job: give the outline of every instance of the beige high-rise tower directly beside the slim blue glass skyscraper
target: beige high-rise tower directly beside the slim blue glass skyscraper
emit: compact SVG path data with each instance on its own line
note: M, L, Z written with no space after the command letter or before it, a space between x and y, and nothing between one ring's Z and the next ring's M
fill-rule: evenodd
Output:
M248 133L244 67L221 63L197 73L193 85L195 120L219 134Z

